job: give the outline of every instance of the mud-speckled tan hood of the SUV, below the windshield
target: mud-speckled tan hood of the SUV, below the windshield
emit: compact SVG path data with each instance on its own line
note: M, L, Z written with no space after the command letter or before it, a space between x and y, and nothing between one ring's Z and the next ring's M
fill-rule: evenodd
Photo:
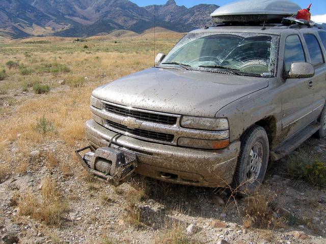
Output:
M150 68L102 85L93 96L133 108L214 117L225 105L267 86L267 78Z

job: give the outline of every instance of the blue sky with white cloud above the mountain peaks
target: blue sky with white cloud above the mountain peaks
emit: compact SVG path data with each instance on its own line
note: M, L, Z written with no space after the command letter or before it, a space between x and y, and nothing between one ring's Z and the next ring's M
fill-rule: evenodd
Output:
M131 0L131 2L143 7L152 4L165 4L168 0ZM259 0L258 0L259 1ZM236 2L235 0L175 0L177 5L184 5L189 8L197 4L216 4L219 6L226 5L228 3ZM324 22L326 23L326 1L325 0L293 0L302 8L307 8L310 3L312 3L311 7L311 15L313 16L313 20L316 22ZM317 16L317 17L316 17ZM317 20L316 20L317 19Z

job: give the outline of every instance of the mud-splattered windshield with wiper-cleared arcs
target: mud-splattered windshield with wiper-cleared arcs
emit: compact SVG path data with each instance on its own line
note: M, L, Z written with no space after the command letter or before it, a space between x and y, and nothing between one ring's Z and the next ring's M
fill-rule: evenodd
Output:
M159 67L181 66L208 72L225 69L275 76L278 40L278 36L265 34L189 33Z

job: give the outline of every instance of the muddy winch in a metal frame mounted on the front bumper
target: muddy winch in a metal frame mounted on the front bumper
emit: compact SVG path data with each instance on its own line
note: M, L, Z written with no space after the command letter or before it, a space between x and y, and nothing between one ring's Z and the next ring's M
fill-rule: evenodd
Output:
M90 150L80 155L82 151ZM130 179L137 167L137 157L117 148L101 147L96 150L86 146L75 151L76 155L87 171L109 184L117 187Z

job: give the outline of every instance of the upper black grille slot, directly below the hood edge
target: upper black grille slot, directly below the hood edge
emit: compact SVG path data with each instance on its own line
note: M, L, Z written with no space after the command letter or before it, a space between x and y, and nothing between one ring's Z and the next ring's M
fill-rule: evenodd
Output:
M126 117L133 117L143 121L150 121L158 124L175 125L177 123L177 117L174 116L137 111L137 110L114 106L112 104L105 104L105 110L110 113L114 113Z

